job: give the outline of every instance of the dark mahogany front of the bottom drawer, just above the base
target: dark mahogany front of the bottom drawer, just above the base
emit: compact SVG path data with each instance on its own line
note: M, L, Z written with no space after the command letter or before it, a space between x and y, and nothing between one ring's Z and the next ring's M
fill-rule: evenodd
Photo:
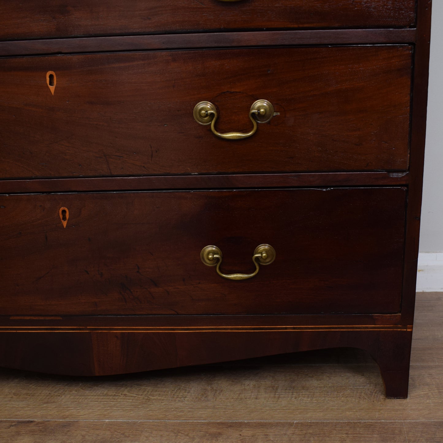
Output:
M0 197L3 315L386 313L400 309L406 190ZM68 212L66 228L59 217ZM256 246L276 260L252 272Z

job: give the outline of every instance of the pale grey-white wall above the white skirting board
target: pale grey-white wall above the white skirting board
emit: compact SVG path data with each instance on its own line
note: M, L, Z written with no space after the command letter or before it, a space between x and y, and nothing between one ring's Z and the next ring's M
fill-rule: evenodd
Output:
M432 2L420 252L443 252L443 1ZM419 260L420 263L420 260Z

